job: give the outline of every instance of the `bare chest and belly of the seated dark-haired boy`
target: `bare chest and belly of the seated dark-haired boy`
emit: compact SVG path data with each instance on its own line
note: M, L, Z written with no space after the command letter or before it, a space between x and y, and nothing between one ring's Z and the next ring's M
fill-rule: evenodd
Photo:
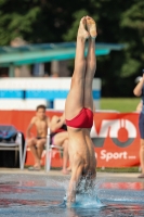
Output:
M45 138L48 132L48 117L45 116L44 119L35 117L35 125L37 128L37 137Z

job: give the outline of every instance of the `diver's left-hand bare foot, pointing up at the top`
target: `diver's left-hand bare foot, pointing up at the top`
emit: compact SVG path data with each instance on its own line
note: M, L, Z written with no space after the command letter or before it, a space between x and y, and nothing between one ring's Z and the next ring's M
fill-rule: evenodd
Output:
M88 39L90 37L90 34L86 30L86 16L80 20L78 37L83 39Z

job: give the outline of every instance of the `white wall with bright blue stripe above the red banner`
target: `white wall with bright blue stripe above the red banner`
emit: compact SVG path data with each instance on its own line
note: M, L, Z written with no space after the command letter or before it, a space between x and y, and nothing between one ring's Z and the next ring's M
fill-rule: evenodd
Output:
M71 78L2 78L0 79L0 110L35 110L44 104L64 110ZM92 94L100 108L101 79L93 79Z

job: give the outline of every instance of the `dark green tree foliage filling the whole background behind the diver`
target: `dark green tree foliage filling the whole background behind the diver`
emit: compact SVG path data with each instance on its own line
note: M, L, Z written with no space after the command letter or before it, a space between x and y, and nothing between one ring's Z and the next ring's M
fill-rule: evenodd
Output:
M102 94L131 97L134 78L144 68L143 0L0 0L0 46L17 36L29 43L75 41L83 15L96 21L97 42L126 46L97 58Z

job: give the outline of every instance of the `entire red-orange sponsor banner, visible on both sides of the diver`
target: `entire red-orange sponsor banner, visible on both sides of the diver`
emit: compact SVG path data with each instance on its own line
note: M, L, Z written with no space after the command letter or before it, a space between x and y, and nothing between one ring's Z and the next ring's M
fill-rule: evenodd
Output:
M12 124L26 132L35 111L0 111L0 124ZM47 111L50 118L62 115L58 111ZM130 167L140 165L140 135L138 113L95 113L91 138L95 146L97 167ZM36 129L31 130L36 136ZM44 164L45 151L42 154ZM62 167L62 154L53 150L52 167ZM34 157L27 150L26 165L34 164Z

